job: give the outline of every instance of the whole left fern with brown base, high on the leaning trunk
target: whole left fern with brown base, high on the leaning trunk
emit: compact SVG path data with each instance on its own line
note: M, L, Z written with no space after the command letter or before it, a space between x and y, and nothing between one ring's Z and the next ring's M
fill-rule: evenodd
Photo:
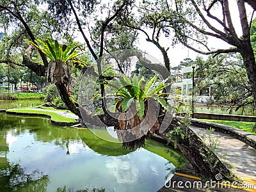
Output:
M57 40L53 41L51 38L47 38L45 42L39 39L35 42L36 44L28 41L29 44L51 59L47 67L47 81L67 85L70 81L68 61L81 54L77 51L81 45L77 42L73 42L70 45L60 45Z

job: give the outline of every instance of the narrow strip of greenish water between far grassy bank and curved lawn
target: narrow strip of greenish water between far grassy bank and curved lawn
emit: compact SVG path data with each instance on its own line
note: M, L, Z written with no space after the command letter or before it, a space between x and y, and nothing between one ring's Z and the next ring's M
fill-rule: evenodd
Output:
M0 109L35 107L44 104L44 100L0 100Z

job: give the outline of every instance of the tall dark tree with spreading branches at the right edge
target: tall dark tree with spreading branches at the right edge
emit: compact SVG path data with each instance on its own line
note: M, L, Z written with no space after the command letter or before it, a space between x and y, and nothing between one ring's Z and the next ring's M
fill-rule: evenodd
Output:
M246 2L253 1L236 1L239 14L239 24L241 26L242 36L237 34L237 25L232 20L232 12L230 10L230 1L214 0L214 1L175 1L177 15L180 16L177 22L182 26L182 30L176 30L176 37L183 45L201 54L213 54L214 56L221 53L239 52L243 58L246 74L252 88L254 105L256 106L256 63L253 54L252 44L250 42L250 28L252 26L252 18L255 10L246 8ZM186 11L184 11L186 10ZM219 10L219 15L216 10ZM221 16L220 16L221 14ZM195 22L197 20L197 22ZM237 20L236 20L237 23ZM236 26L236 27L235 27ZM229 49L214 49L211 50L207 46L207 42L199 36L212 36L223 40L232 47ZM193 38L193 36L198 38ZM198 41L200 40L200 41ZM199 42L202 45L198 49L194 42ZM202 51L205 49L205 51Z

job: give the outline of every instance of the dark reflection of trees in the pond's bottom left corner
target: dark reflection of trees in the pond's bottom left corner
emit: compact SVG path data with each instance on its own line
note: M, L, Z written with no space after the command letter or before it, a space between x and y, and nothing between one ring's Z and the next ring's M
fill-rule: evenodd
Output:
M38 170L26 173L19 164L0 170L0 191L47 191L48 175Z

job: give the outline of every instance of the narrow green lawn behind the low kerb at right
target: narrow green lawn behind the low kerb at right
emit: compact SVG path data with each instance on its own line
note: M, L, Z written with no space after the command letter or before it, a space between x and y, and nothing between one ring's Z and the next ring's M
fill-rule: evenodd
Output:
M205 122L212 122L212 123L236 127L237 129L241 129L243 131L256 134L255 132L252 132L253 125L255 124L254 122L232 122L232 121L225 121L225 120L209 120L209 119L201 119L201 120Z

